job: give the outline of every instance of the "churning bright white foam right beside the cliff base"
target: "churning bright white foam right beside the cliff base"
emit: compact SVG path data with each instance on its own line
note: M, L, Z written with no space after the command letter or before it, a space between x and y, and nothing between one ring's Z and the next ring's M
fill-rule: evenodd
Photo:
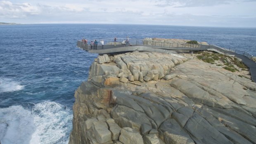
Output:
M69 109L55 102L43 102L34 106L33 113L36 115L36 132L32 135L31 144L69 142L72 128L72 112Z

